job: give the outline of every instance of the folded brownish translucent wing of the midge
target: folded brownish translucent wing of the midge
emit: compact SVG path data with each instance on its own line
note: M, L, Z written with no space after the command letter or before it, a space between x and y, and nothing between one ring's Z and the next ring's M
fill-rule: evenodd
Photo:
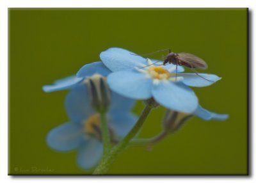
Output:
M184 66L189 68L206 69L208 67L207 63L205 63L205 61L202 60L202 58L199 58L198 56L195 56L187 52L180 52L178 59L184 62Z

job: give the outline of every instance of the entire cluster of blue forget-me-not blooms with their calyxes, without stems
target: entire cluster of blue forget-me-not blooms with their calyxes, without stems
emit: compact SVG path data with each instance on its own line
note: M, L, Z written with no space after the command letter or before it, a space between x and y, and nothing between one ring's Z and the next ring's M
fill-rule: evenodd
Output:
M101 52L100 60L84 65L76 76L43 87L45 92L71 90L65 99L70 122L52 129L47 144L61 152L77 149L77 162L84 169L98 164L104 152L100 114L106 113L113 146L136 134L137 117L131 113L135 100L153 100L166 107L163 120L166 134L177 131L191 116L219 121L228 118L228 115L212 113L200 106L190 88L214 84L221 79L214 74L199 77L195 73L184 73L182 66L157 65L157 60L121 48Z

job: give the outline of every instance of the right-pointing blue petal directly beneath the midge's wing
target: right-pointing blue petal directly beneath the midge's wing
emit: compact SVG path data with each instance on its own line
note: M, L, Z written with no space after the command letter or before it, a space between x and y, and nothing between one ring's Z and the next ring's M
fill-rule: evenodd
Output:
M195 73L182 73L182 74L178 74L178 76L182 76L184 78L182 80L184 84L188 86L195 86L195 87L209 86L221 79L221 77L218 77L214 74L202 74L202 73L199 73L199 76L197 76ZM207 81L200 76L210 81Z

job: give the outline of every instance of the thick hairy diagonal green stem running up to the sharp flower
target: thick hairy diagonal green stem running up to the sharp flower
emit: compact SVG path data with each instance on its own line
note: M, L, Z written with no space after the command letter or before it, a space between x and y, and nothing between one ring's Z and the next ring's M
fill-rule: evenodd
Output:
M136 136L138 131L140 131L151 109L152 109L152 105L147 105L143 109L143 112L141 113L140 118L136 122L136 125L134 125L134 127L131 129L129 134L127 134L127 136L125 136L125 138L122 139L120 143L118 143L115 147L113 147L108 154L102 157L102 161L99 164L99 166L97 166L97 168L95 168L95 170L93 171L93 175L103 175L108 171L109 166L115 160L116 155L120 154L120 152L129 144L131 139L134 138L134 136Z

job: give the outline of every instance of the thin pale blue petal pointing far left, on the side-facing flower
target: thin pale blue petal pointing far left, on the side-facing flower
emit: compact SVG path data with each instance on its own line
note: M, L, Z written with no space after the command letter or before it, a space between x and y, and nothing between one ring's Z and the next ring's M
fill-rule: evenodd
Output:
M43 86L44 92L56 92L60 90L67 90L74 87L77 83L82 81L83 78L76 76L65 77L64 79L60 79L55 81L53 85Z

